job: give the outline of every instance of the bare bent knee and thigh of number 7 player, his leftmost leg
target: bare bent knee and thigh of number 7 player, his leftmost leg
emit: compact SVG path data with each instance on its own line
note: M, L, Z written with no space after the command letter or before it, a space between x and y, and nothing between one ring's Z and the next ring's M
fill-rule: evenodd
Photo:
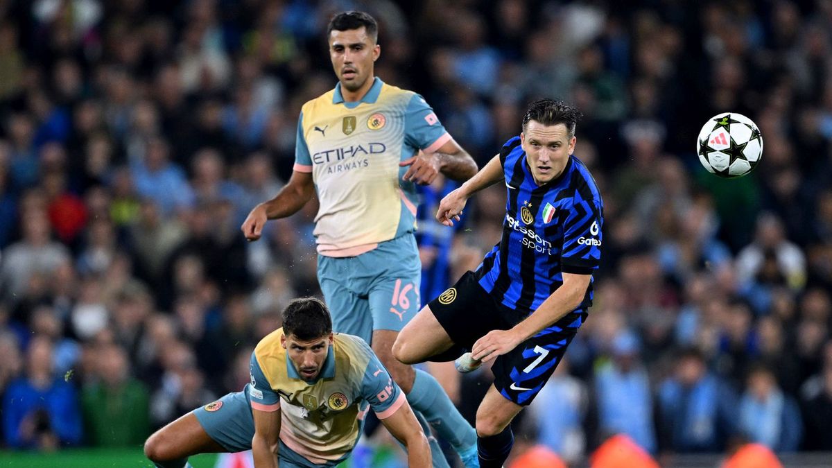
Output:
M430 306L424 306L399 332L393 345L393 355L405 364L416 364L448 351L452 346L453 340L436 320Z

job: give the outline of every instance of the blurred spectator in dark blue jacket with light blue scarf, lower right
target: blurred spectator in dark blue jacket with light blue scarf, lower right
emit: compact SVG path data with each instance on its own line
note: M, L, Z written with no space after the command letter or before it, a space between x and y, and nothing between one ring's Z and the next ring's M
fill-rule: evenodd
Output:
M736 396L695 349L681 352L674 375L659 386L658 403L666 451L722 451L735 434Z

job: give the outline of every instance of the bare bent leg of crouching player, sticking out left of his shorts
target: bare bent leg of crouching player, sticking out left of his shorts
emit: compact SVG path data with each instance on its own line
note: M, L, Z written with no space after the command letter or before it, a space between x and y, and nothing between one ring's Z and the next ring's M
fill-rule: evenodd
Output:
M174 461L198 453L224 451L225 447L210 438L193 411L162 427L145 442L145 455L152 461Z

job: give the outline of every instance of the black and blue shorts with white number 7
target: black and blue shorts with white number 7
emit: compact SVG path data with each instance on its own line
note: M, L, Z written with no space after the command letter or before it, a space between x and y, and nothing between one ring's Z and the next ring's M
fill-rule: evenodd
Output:
M495 301L479 286L471 271L428 304L454 344L471 351L478 339L493 330L508 330L531 311L515 311ZM509 401L527 406L552 376L587 311L569 312L552 326L522 341L494 361L494 386Z

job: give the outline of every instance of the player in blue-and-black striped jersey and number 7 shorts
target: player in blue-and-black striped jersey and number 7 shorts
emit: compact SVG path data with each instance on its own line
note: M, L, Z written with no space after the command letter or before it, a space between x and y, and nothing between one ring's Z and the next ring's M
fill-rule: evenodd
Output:
M482 468L503 466L514 441L509 423L552 375L592 304L603 203L572 157L579 115L563 102L532 102L520 136L443 199L437 219L453 226L469 197L504 180L503 238L477 271L419 311L393 347L406 363L471 350L460 371L496 358L494 385L477 411Z

